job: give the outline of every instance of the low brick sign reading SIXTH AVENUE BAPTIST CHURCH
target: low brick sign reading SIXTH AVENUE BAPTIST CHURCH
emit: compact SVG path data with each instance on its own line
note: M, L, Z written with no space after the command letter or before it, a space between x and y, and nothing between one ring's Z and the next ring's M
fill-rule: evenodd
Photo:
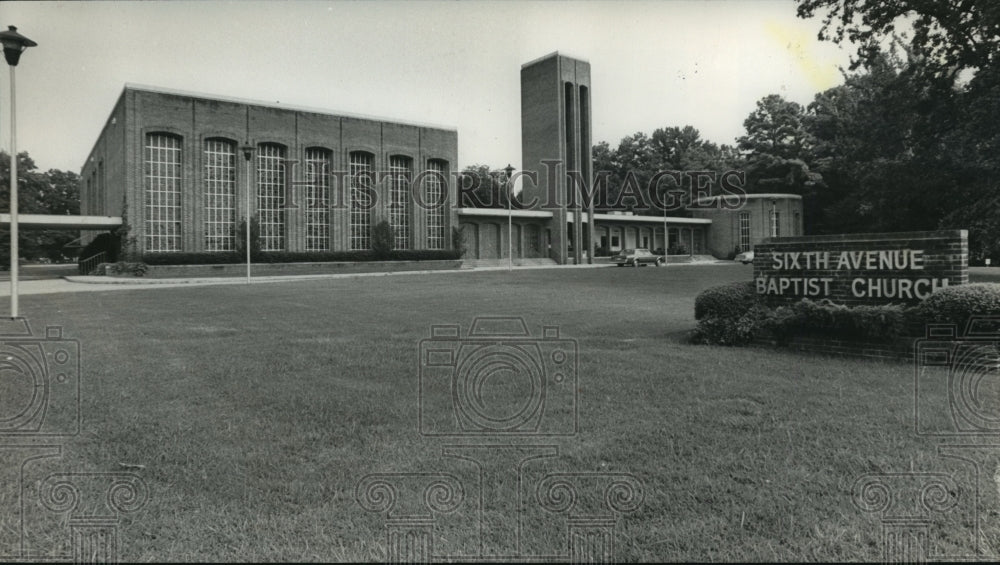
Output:
M758 294L772 305L913 304L969 282L966 230L781 237L754 248Z

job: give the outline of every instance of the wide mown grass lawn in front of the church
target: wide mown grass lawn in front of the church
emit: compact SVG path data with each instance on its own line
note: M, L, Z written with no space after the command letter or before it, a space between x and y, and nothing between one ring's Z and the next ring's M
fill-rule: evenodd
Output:
M59 464L148 486L146 506L121 519L122 560L382 560L386 516L355 489L403 472L465 485L435 551L548 555L565 548L566 516L519 506L527 487L501 472L538 444L557 455L525 477L627 473L641 485L642 504L618 516L621 561L878 560L885 515L859 509L852 488L906 473L946 474L962 493L929 516L933 551L987 559L1000 547L996 450L968 464L917 436L910 365L686 343L697 292L749 276L739 265L391 276L28 296L22 310L36 333L58 324L81 343L83 432ZM443 453L493 438L420 434L418 351L432 324L465 332L498 315L576 341L579 431L494 441L514 447L482 451L478 485L474 464Z

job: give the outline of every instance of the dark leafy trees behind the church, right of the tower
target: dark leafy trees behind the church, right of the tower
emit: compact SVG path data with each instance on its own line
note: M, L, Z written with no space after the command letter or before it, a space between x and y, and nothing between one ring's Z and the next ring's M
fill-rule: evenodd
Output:
M598 143L599 201L655 212L657 172L739 170L747 193L801 195L807 233L968 229L970 260L1000 263L1000 3L799 0L798 15L854 46L843 84L805 106L762 98L733 145L690 125Z

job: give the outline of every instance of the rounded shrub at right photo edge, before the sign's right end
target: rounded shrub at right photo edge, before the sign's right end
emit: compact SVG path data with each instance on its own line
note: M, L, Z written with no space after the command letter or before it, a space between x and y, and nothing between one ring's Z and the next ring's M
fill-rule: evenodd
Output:
M972 283L942 288L914 310L912 321L917 326L955 324L959 331L964 331L972 316L1000 317L1000 284Z

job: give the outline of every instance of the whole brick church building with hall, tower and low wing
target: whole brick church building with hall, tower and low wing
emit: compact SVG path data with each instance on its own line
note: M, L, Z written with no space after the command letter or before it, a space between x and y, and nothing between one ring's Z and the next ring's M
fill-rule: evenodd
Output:
M726 257L803 233L801 198L788 194L685 217L567 206L567 171L593 182L592 123L589 63L558 52L526 63L522 170L539 174L521 200L535 204L463 208L455 128L126 85L82 168L81 213L127 218L141 253L235 250L248 206L263 251L367 250L383 220L396 249L451 249L458 228L468 259L510 249L560 264L678 242ZM542 174L553 162L556 174Z

